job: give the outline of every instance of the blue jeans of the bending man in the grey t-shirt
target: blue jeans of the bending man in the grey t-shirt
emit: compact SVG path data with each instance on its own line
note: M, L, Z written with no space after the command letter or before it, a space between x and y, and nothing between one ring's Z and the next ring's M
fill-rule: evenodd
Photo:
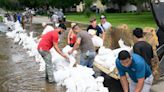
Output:
M81 53L80 55L80 65L93 68L94 58L96 56L95 52L87 51L86 53Z

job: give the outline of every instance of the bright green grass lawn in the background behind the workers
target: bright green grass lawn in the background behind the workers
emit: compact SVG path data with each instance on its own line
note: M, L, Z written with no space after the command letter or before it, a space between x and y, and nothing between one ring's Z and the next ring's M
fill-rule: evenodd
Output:
M106 13L107 20L113 25L118 26L121 24L127 24L129 28L135 27L154 27L156 28L156 23L154 21L153 15L151 12L144 12L140 15L136 13ZM92 14L95 16L99 23L100 15ZM67 20L82 22L89 24L89 18L86 17L83 13L74 13L66 14Z

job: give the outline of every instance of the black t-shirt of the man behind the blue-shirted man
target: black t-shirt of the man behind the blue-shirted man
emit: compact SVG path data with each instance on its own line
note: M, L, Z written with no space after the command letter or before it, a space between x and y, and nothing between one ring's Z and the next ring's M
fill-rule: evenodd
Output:
M150 61L153 58L153 49L149 43L145 41L139 41L135 43L133 46L133 52L142 56L147 64L152 68Z

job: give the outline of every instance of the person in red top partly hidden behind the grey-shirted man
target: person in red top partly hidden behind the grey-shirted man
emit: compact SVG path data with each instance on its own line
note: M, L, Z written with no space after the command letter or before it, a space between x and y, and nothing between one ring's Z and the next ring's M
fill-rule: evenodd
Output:
M74 44L76 43L76 34L72 30L74 25L76 25L76 23L71 23L71 29L69 30L68 37L67 37L68 44L71 47L73 47Z

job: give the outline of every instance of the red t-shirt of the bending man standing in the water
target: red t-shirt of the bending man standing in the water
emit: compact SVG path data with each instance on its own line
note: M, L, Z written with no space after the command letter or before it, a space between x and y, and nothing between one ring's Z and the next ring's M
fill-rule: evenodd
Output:
M56 30L50 31L42 36L38 44L39 50L49 51L53 47L53 43L58 43L58 31Z

